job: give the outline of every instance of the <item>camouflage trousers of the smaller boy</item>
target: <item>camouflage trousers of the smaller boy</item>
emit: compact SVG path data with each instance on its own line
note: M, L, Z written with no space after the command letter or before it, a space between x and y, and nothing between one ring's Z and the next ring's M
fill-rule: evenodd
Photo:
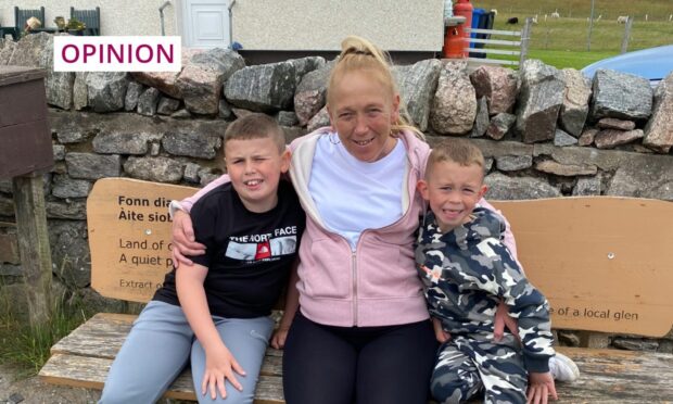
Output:
M484 403L525 403L528 371L519 341L455 337L440 346L430 390L440 403L462 403L484 391Z

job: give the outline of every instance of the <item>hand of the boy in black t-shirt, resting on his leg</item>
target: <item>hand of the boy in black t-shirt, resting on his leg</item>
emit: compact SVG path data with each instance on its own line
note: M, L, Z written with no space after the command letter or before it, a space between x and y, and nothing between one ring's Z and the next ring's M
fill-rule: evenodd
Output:
M216 400L219 392L219 395L226 399L227 388L225 383L227 380L234 389L242 391L243 387L236 378L234 373L245 376L245 370L239 365L227 346L221 344L213 351L206 351L201 394L205 395L209 391L211 399Z

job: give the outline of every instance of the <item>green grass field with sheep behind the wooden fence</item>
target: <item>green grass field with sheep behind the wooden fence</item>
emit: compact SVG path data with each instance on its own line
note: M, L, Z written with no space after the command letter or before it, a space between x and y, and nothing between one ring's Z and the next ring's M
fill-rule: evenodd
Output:
M673 43L673 21L669 21L673 20L673 0L595 0L591 51L587 21L591 15L591 0L471 2L475 8L498 11L494 29L518 30L523 27L526 16L537 15L537 24L533 25L531 34L530 58L539 59L559 68L582 68L595 61L619 54L625 29L624 24L617 23L620 15L634 17L628 51ZM558 11L560 18L550 17L555 11ZM519 17L519 25L506 24L512 16Z

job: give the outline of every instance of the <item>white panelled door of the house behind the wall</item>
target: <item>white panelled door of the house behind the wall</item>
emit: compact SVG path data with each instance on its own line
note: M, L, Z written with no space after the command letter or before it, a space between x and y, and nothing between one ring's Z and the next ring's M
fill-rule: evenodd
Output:
M188 48L228 48L228 0L183 0L183 45Z

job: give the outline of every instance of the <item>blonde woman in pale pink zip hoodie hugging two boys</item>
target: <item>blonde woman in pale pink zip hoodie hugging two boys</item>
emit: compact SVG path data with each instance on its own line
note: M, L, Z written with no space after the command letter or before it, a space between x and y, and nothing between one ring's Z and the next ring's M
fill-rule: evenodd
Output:
M412 243L424 209L416 184L430 148L401 116L388 59L361 38L342 42L327 108L331 128L291 144L306 231L300 310L284 343L285 400L424 404L437 342ZM203 253L191 240L189 217L176 214L176 262Z

